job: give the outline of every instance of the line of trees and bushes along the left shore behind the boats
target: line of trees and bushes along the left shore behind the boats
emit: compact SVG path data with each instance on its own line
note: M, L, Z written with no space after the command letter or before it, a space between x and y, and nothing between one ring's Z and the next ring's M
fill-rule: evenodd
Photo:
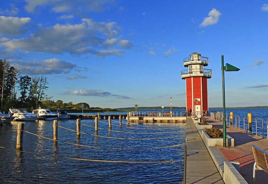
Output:
M52 97L48 97L46 94L48 88L46 77L20 75L20 71L12 66L6 58L0 59L1 111L8 112L11 107L21 107L31 112L33 109L42 107L45 109L72 109L75 112L82 109L82 104L84 104L85 112L88 110L117 111L110 108L90 108L88 103L63 103L62 100L54 102L50 100Z

